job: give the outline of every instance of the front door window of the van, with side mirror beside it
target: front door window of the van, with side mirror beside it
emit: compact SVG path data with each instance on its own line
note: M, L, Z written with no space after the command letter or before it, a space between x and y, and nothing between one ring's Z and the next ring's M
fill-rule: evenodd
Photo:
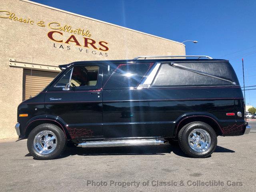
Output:
M56 84L56 87L70 86L96 86L99 66L75 66L71 68Z

